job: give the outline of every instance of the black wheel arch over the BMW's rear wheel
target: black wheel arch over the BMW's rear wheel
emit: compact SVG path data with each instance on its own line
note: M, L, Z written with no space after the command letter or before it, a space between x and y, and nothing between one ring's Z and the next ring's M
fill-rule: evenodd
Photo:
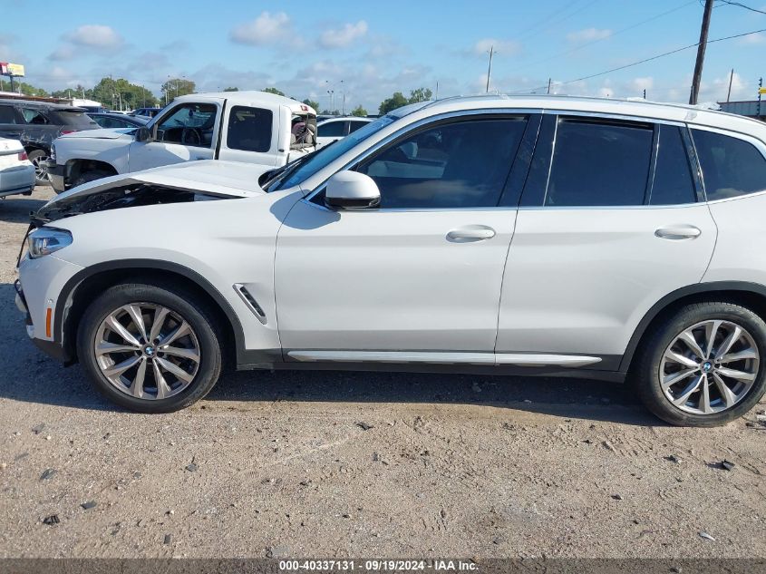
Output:
M649 333L651 327L684 305L703 301L726 301L750 308L766 321L766 286L748 281L713 281L697 283L675 290L650 308L635 327L633 336L625 349L620 371L626 373L633 365L636 351Z

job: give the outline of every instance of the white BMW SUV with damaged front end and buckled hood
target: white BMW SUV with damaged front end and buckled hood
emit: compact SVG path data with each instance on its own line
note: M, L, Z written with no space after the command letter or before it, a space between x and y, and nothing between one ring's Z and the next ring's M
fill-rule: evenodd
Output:
M473 97L262 172L197 161L33 218L34 343L136 411L224 365L630 378L709 426L766 386L766 125L686 106Z

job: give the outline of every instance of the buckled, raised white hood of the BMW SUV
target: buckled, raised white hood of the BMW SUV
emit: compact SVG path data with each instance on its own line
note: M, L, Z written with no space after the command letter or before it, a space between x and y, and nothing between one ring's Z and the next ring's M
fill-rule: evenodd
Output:
M53 221L105 209L263 195L258 178L269 168L239 161L189 161L113 175L65 191L33 216Z

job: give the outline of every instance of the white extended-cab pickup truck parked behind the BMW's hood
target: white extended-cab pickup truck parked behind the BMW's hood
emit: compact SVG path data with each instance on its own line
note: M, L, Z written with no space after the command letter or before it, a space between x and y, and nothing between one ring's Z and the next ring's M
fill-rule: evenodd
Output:
M176 98L146 127L76 131L53 141L56 192L92 180L192 160L245 161L264 171L315 150L316 112L267 92Z

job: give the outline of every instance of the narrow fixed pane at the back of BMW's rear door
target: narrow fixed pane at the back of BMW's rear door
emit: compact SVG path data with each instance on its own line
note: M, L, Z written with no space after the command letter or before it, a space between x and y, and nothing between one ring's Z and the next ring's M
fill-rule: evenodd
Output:
M696 201L696 191L681 129L659 125L657 165L649 199L651 205L678 205Z

